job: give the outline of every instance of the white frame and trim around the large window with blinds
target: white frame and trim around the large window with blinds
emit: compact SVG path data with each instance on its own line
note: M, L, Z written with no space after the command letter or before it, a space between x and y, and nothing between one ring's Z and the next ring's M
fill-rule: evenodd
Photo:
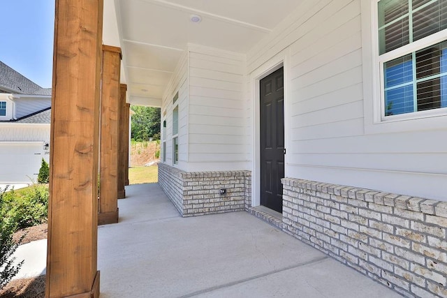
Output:
M447 108L385 115L383 63L447 39L447 29L379 55L379 0L361 1L365 133L390 133L445 128Z

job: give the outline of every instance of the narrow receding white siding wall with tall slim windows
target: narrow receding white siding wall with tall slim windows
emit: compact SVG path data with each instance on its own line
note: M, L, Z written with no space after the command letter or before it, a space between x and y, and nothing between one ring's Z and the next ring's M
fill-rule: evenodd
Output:
M161 104L161 142L166 140L166 164L173 165L173 98L176 93L179 93L179 98L175 105L179 105L179 162L180 170L186 170L188 159L188 55L186 52L179 60L173 78L171 79L168 89L163 96ZM166 111L166 116L163 116ZM163 121L166 120L166 129L163 129ZM164 132L164 133L163 133ZM166 136L165 136L166 135Z

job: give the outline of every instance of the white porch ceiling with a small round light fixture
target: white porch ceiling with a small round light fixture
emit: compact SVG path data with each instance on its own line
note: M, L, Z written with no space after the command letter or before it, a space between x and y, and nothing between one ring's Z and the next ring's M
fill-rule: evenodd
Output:
M247 53L301 0L104 2L103 43L122 48L128 102L157 106L188 43Z

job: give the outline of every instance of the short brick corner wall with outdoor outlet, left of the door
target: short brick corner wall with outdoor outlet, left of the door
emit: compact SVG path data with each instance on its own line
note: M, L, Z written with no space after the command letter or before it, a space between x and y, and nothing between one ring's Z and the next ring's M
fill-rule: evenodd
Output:
M182 216L244 211L251 204L249 171L184 172L160 163L159 184Z

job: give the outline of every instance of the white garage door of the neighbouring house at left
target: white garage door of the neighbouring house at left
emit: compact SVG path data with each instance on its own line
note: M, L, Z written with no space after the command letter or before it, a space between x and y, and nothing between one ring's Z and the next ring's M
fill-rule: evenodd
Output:
M0 142L0 184L37 181L43 142Z

